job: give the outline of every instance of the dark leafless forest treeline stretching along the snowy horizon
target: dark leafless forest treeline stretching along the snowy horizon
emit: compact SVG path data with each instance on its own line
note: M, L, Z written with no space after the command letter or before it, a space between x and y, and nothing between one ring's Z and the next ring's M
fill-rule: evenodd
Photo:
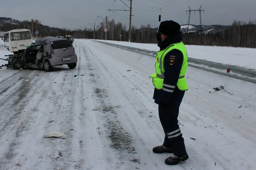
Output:
M213 31L195 31L183 32L183 42L187 45L203 45L203 46L234 46L256 48L256 20L234 21L228 28L218 32ZM30 21L19 21L12 18L0 18L0 31L9 31L13 29L26 28L31 30L32 36L36 37L35 31L39 31L38 37L45 36L65 36L73 35L74 38L105 39L105 24L96 25L95 32L93 28L70 30L66 28L55 28L42 25L37 19ZM108 40L128 41L129 32L126 25L113 20L108 21L108 32L106 33ZM151 26L141 25L136 28L132 25L132 42L136 43L157 43L157 28L152 29Z

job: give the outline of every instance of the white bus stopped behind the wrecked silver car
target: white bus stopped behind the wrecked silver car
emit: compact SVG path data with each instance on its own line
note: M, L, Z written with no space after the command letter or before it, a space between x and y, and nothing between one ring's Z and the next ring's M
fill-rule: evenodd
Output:
M30 30L17 29L4 32L4 46L14 54L26 49L32 43Z

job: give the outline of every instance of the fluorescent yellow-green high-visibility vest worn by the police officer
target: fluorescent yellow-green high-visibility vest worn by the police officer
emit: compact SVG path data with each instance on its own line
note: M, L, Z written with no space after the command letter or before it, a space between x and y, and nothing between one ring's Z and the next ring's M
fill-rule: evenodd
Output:
M171 44L170 46L166 47L165 49L158 51L156 56L156 73L151 74L150 77L153 78L153 85L156 89L162 89L163 88L163 82L164 82L164 57L167 53L170 51L177 49L180 50L183 54L183 63L180 70L179 80L177 83L177 87L181 91L188 90L188 84L185 78L185 74L188 68L188 56L187 56L187 50L182 42Z

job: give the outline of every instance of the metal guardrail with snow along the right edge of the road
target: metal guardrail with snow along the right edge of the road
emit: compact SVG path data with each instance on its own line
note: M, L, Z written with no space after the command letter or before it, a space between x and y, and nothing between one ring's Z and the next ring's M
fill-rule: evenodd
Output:
M130 51L133 51L136 53L141 53L141 54L145 54L145 55L149 55L149 56L156 57L156 55L157 55L156 51L150 51L150 50L129 47L129 46L122 46L122 45L118 45L118 44L96 41L96 40L92 40L92 41L107 44L110 46L115 46L118 48L130 50ZM188 66L195 67L195 68L205 70L205 71L209 71L212 73L217 73L217 74L225 75L228 77L233 77L233 78L237 78L240 80L256 83L256 70L255 69L238 67L238 66L222 64L222 63L217 63L217 62L212 62L212 61L207 61L207 60L200 60L200 59L195 59L195 58L190 58L190 57L188 57ZM228 70L229 70L229 73L227 73Z

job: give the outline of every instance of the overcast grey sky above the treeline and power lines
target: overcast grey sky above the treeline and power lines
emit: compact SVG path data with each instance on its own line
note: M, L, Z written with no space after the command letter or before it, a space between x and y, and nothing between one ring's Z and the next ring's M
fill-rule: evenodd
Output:
M130 1L123 0L130 6ZM129 28L129 11L109 12L106 9L129 10L121 0L1 0L0 17L18 20L38 19L43 25L76 29L90 28L88 23L102 22L97 16L122 22ZM203 25L230 25L235 19L248 22L256 20L256 0L132 0L132 24L136 27L158 26L159 7L162 7L162 21L174 20L180 25L187 24L188 6L199 9ZM199 25L199 12L191 13L190 23Z

